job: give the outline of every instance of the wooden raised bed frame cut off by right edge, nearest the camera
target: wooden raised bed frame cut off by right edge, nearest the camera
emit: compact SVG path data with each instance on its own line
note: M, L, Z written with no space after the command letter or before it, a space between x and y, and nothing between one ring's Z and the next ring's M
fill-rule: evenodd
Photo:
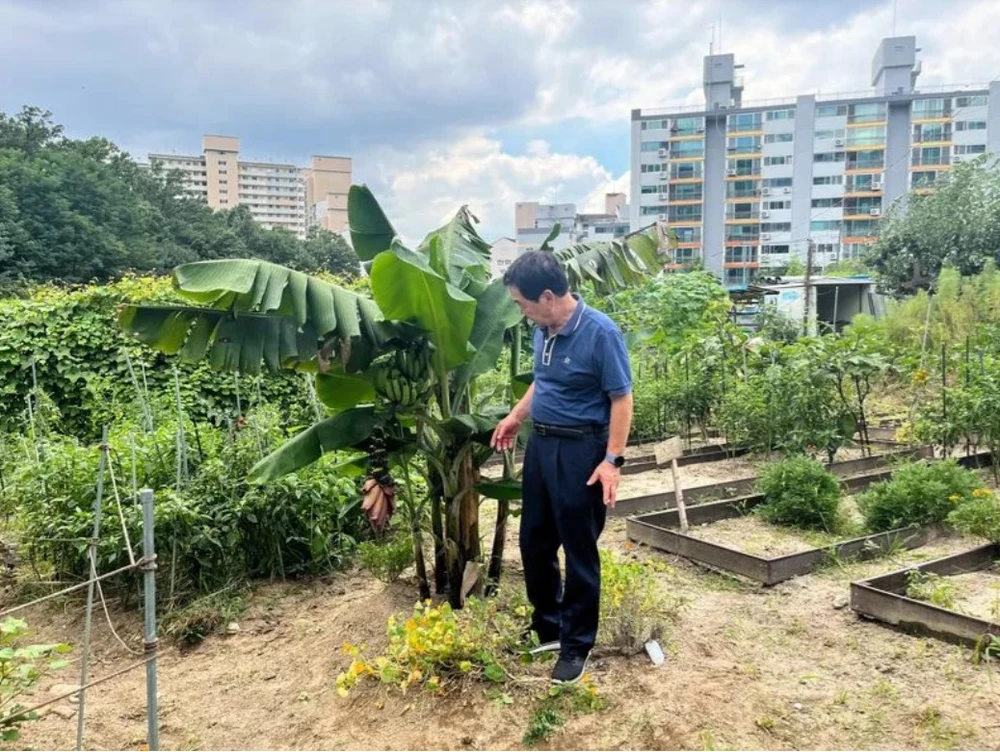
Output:
M969 578L976 574L1000 583L996 572L1000 560L1000 544L990 543L952 556L928 561L918 566L851 583L851 608L870 619L892 624L907 632L927 635L948 642L976 645L984 636L1000 638L1000 619L992 617L988 608L975 603L969 609L974 614L936 606L906 595L909 578L914 570L941 577ZM982 596L982 577L976 584L977 596ZM972 583L967 583L972 586ZM977 601L979 598L977 598ZM985 611L985 613L984 613Z

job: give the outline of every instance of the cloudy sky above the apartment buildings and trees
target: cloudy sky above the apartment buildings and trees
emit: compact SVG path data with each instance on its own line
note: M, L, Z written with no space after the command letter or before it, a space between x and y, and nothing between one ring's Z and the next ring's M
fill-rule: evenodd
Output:
M923 85L1000 77L1000 2L896 5ZM252 159L348 155L405 234L467 203L492 239L515 201L627 191L630 111L702 101L713 26L746 100L856 91L893 2L0 0L0 111L141 158L203 133Z

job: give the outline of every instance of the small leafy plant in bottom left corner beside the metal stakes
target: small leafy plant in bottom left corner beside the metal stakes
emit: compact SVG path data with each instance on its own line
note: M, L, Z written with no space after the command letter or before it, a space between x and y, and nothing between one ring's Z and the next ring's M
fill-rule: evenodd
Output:
M21 619L0 621L0 737L5 742L16 741L21 725L38 717L24 712L22 698L43 676L66 666L58 656L70 651L64 643L22 645L27 634Z

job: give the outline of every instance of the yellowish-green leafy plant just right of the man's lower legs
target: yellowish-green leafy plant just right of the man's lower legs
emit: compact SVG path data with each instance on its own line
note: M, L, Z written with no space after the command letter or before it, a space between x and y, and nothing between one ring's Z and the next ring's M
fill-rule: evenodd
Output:
M657 576L665 565L625 561L601 551L601 618L598 643L631 655L648 640L662 639L684 600L666 592Z

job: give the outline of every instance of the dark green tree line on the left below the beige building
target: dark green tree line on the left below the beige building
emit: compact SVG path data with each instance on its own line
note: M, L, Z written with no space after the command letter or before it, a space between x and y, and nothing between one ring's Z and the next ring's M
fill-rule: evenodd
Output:
M180 197L181 185L179 174L151 172L106 138L67 137L46 110L0 112L0 286L104 282L220 258L359 271L340 235L268 230L248 207L213 211Z

